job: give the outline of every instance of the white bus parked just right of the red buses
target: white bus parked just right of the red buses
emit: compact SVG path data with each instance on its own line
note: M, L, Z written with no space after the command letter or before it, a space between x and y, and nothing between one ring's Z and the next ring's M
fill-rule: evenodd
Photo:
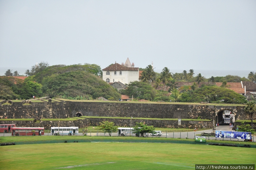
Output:
M51 127L51 135L78 135L78 127Z

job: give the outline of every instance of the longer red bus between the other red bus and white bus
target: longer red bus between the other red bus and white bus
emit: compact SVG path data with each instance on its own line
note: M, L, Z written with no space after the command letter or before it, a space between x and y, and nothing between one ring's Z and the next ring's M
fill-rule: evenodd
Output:
M44 128L12 128L12 136L41 136L41 135L44 135Z

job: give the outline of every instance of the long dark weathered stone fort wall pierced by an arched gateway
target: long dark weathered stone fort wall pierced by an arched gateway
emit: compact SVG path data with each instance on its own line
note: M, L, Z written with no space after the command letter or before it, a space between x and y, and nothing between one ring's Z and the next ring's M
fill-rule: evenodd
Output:
M108 116L108 117L145 117L145 118L177 118L177 119L209 119L215 120L216 115L223 110L230 110L235 113L236 120L249 119L244 113L244 107L236 106L214 106L214 105L181 105L171 103L124 103L124 102L79 102L79 101L61 101L61 102L30 102L30 105L24 105L22 102L11 102L11 105L4 105L1 102L0 116L7 118L33 118L36 120L45 118L68 118L75 117L77 114L83 116ZM256 116L255 116L256 117ZM254 120L255 120L254 117ZM111 119L119 126L129 125L129 119ZM128 122L127 122L128 121ZM86 125L96 126L100 119L87 119L84 122L62 122L62 124L76 125L84 127ZM155 127L177 127L177 122L141 120L148 125ZM54 124L55 123L55 124ZM184 122L186 127L192 127L198 122ZM212 121L199 123L201 126L212 127ZM41 123L40 123L41 125ZM56 126L56 122L42 122L45 126ZM73 126L73 125L72 125Z

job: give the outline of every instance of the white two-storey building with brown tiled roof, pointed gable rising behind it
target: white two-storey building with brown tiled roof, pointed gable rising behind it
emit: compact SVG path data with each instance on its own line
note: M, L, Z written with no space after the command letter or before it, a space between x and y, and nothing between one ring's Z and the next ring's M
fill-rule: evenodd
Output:
M129 84L132 81L139 81L139 67L134 67L127 58L125 64L112 64L102 69L102 79L107 83L120 81L123 84Z

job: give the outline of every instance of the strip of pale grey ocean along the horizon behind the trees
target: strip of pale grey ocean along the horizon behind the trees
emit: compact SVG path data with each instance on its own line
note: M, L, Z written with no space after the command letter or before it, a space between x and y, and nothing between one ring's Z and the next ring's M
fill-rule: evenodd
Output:
M0 76L4 76L4 73L8 70L12 70L12 73L14 71L18 71L20 75L25 75L26 70L30 70L31 68L7 68L7 67L2 67L0 68ZM162 70L154 70L158 73L160 73ZM225 77L227 75L232 75L232 76L239 76L239 77L248 77L248 74L253 71L256 72L256 70L194 70L194 77L197 76L197 74L201 73L202 76L205 78L211 78L213 77ZM182 73L183 70L170 70L172 73ZM189 70L187 70L189 73Z

